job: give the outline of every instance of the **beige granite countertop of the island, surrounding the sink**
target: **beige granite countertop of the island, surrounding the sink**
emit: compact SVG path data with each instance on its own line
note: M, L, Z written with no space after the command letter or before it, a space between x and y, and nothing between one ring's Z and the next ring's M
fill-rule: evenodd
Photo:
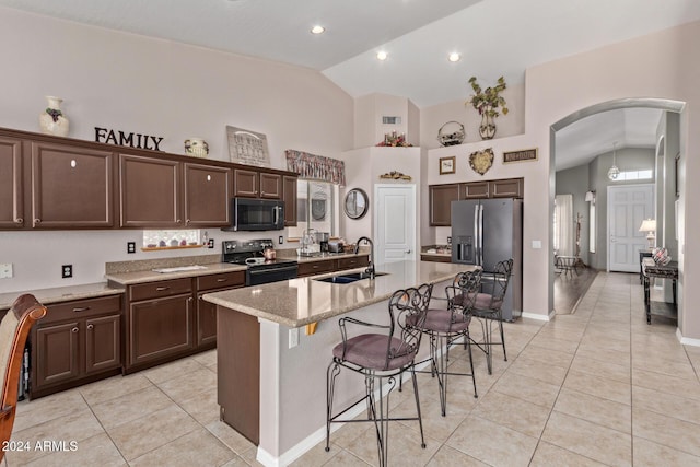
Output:
M360 268L208 293L202 299L284 326L300 327L382 302L399 289L442 282L454 278L457 272L477 268L452 262L387 262L376 266L377 272L386 275L377 276L373 280L363 279L347 284L315 280L364 270ZM444 291L433 292L435 296L444 295Z

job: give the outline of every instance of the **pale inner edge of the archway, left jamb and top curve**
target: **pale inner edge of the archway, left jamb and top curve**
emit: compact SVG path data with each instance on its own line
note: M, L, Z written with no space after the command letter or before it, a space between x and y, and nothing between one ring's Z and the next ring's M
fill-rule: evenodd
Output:
M579 120L582 120L586 117L591 117L597 114L602 114L602 113L607 113L609 110L617 110L617 109L629 109L629 108L653 108L653 109L660 109L660 110L664 110L664 112L670 112L670 113L676 113L676 114L681 114L682 109L684 109L685 103L680 102L680 101L673 101L673 100L664 100L664 98L622 98L622 100L616 100L616 101L609 101L609 102L604 102L604 103L599 103L599 104L595 104L592 105L590 107L585 107L582 108L580 110L576 110L570 115L568 115L567 117L562 118L561 120L555 122L553 125L551 125L550 127L550 141L549 141L549 145L550 145L550 154L551 154L551 161L550 161L550 179L555 179L556 178L556 157L557 157L557 131L560 131L569 126L571 126L574 122L578 122ZM677 131L677 129L676 129ZM655 148L656 149L656 148ZM553 205L555 205L555 195L556 195L556 190L555 190L555 185L550 185L552 188L550 188L550 192L549 192L549 207L550 207L550 212L549 212L549 219L552 219L553 217ZM603 226L605 227L605 226ZM553 227L552 224L550 223L549 226L549 241L550 241L550 245L553 244ZM550 249L549 252L550 255L550 260L549 262L549 269L550 269L550 273L549 276L549 287L548 287L548 303L549 303L549 310L553 310L553 304L555 304L555 296L553 296L553 281L555 281L555 258L553 258L553 250Z

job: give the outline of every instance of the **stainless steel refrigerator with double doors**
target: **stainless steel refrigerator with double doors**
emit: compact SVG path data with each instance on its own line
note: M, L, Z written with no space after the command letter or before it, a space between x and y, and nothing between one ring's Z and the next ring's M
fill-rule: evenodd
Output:
M478 265L485 272L513 258L513 275L502 312L513 320L523 311L523 201L521 199L468 199L452 201L452 262ZM488 275L482 290L490 291Z

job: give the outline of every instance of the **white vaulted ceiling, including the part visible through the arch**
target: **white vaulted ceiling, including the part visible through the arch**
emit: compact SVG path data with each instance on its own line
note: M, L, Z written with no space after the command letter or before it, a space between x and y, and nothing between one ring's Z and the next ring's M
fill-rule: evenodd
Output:
M419 107L468 97L471 75L482 83L500 75L522 83L535 65L700 20L698 0L0 0L0 5L308 67L352 96L400 95ZM311 34L317 24L325 33ZM377 51L385 51L386 60L377 60ZM448 61L451 52L460 60ZM558 140L558 161L609 151L611 140L602 138L608 132L620 148L653 147L648 129L655 129L660 116L617 110L588 117L578 122L580 133L562 133L561 144L574 147L562 150ZM600 137L597 148L590 135Z

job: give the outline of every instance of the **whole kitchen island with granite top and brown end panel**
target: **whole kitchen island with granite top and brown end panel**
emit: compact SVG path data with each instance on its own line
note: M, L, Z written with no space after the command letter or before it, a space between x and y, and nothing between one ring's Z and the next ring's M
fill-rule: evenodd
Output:
M444 296L444 287L457 272L474 268L398 261L377 265L377 272L386 275L374 280L317 280L331 276L324 275L206 294L203 300L218 305L222 420L258 445L261 464L290 464L325 437L326 369L341 340L338 322L331 318L350 314L387 324L388 299L396 290L433 283L433 295ZM314 323L316 332L300 332ZM361 378L353 376L341 374L338 380L339 407L364 392Z

